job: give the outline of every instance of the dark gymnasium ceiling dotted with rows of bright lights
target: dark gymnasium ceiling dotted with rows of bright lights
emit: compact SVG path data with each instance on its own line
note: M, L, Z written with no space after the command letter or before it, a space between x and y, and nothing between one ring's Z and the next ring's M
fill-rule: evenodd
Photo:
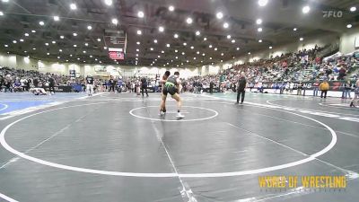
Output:
M258 0L112 0L110 5L105 1L111 2L0 0L0 51L62 63L203 66L300 38L339 35L348 30L347 24L352 24L351 29L359 25L358 0L267 0L265 6L259 6ZM310 6L309 13L302 13L304 5ZM357 11L351 12L352 6ZM323 11L341 12L342 17L324 18ZM217 18L218 12L223 13L222 19ZM111 22L114 18L117 24ZM228 28L223 27L225 22ZM89 25L92 30L87 29ZM160 26L164 31L159 31ZM125 60L108 57L105 31L127 33ZM175 39L174 34L179 37Z

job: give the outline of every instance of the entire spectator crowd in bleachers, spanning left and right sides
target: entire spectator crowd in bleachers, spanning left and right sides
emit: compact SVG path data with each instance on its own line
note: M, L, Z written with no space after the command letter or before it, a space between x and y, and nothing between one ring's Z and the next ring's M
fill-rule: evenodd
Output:
M297 53L282 54L268 59L259 59L251 63L232 66L216 75L195 76L183 79L183 91L201 92L209 87L219 88L221 91L235 92L238 76L241 73L247 78L250 85L254 83L292 83L308 82L314 80L350 80L358 77L359 53L346 56L318 57L322 48L303 49ZM0 90L10 92L29 91L31 87L43 88L48 86L49 78L55 81L55 86L81 85L84 91L83 76L70 77L69 75L56 75L39 73L38 71L25 71L9 67L0 68ZM136 92L140 85L140 77L112 78L116 81L120 91ZM147 78L148 85L159 89L160 83L156 78ZM109 91L110 79L95 78L97 91ZM249 86L252 87L252 86Z

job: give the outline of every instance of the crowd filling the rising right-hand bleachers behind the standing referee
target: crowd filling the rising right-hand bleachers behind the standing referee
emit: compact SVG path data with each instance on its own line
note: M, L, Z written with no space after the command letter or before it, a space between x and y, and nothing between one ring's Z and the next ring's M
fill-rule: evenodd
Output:
M303 49L297 53L260 59L243 65L232 66L217 75L196 76L187 80L188 90L214 83L221 89L235 89L238 76L246 75L249 83L300 83L315 80L355 81L358 77L359 53L330 57L317 57L322 48ZM355 72L356 71L356 72Z

